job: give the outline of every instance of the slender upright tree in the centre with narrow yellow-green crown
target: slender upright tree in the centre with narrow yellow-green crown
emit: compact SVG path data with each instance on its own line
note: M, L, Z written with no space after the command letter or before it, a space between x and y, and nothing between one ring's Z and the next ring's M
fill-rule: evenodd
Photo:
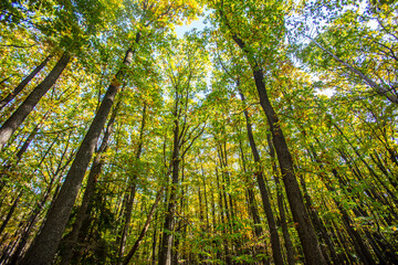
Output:
M179 187L180 161L195 140L205 130L205 125L195 117L199 113L198 106L192 104L193 97L203 88L206 71L206 54L200 52L200 40L195 36L187 38L186 42L177 44L176 59L167 57L165 68L170 84L170 96L172 96L172 153L170 158L171 187L169 191L167 212L165 216L164 234L159 254L159 264L171 263L171 245L175 232L175 212L177 208L177 194ZM190 46L188 46L190 42ZM193 44L193 45L192 45ZM172 61L171 61L172 60ZM199 67L201 65L201 67ZM197 114L200 115L200 114Z

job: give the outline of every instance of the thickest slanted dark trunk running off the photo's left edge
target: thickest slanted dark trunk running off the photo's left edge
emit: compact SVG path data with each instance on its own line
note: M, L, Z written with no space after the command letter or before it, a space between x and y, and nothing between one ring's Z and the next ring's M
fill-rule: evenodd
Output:
M44 96L44 94L55 84L61 73L70 62L71 56L69 53L64 53L60 61L52 68L50 74L40 83L27 97L27 99L19 106L19 108L6 120L3 126L0 128L0 151L10 139L12 134L21 126L23 120L33 110L34 106Z

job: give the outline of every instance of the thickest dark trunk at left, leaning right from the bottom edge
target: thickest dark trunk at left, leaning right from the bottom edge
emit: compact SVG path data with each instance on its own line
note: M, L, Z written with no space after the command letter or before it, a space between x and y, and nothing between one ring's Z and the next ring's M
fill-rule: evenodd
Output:
M138 38L139 34L137 34L137 39ZM48 265L54 259L85 171L87 170L87 166L93 156L101 131L104 128L105 121L111 112L121 81L125 75L127 66L132 63L132 60L133 50L128 49L123 62L124 65L109 85L104 99L101 103L98 112L96 113L94 120L90 126L81 147L78 148L60 193L48 212L43 229L34 240L32 246L28 250L27 256L21 263L22 265Z

